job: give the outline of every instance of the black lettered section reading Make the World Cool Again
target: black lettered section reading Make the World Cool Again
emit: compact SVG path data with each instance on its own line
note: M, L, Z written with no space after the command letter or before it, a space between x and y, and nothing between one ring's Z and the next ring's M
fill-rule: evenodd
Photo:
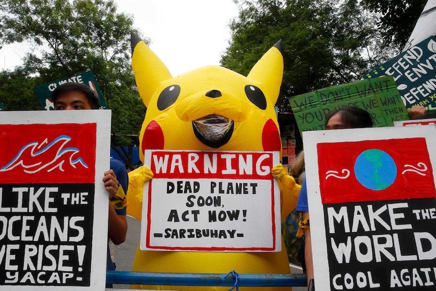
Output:
M332 290L434 290L436 199L323 207Z

